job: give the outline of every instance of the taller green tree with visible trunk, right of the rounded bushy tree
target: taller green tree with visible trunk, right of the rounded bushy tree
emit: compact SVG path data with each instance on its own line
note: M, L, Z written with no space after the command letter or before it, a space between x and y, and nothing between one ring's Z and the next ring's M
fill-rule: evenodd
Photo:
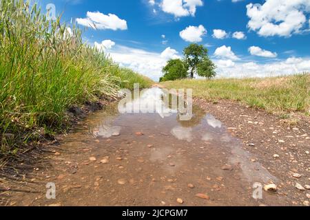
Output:
M208 50L203 45L192 43L183 50L183 54L191 78L194 78L195 73L198 76L207 76L208 78L215 76L215 65L209 59Z

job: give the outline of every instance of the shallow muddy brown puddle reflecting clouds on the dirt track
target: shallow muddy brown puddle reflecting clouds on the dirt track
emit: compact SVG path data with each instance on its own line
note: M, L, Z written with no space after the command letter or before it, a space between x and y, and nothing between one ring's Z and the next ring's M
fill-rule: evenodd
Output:
M163 103L164 95L159 88L148 89L121 107L114 104L90 115L76 131L62 138L59 152L50 159L52 167L35 171L39 192L15 192L10 195L15 204L285 204L280 195L269 192L262 192L261 199L253 198L254 190L278 179L242 148L242 142L230 135L225 124L195 106L191 120L180 120L178 111ZM147 103L164 104L169 111L119 113L149 107ZM45 197L48 182L56 186L56 199Z

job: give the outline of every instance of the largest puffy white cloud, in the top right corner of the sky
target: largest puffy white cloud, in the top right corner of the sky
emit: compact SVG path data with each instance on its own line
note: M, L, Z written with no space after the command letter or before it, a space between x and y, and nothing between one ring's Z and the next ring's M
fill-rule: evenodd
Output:
M250 30L260 36L291 36L300 33L310 12L309 0L266 0L247 5Z

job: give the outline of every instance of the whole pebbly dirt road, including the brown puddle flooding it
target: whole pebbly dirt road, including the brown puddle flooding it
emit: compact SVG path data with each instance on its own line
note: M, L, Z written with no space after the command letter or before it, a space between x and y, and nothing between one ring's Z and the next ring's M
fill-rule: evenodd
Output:
M131 104L161 103L162 93L149 89ZM309 124L287 130L266 115L202 100L190 121L174 110L118 113L114 106L59 137L46 168L34 168L32 181L19 186L4 181L0 197L7 206L307 205ZM56 199L46 197L48 183ZM271 183L277 192L262 189Z

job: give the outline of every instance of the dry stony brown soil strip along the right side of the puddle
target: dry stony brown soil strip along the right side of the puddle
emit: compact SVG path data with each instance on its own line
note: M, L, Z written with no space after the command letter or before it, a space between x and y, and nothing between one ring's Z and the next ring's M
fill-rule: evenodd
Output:
M291 118L281 119L280 115L229 100L213 103L195 98L194 102L230 127L229 132L242 140L243 148L280 179L279 193L290 198L288 205L302 206L304 201L309 201L310 191L295 187L296 183L310 185L309 117L291 113ZM301 177L293 177L294 173Z

